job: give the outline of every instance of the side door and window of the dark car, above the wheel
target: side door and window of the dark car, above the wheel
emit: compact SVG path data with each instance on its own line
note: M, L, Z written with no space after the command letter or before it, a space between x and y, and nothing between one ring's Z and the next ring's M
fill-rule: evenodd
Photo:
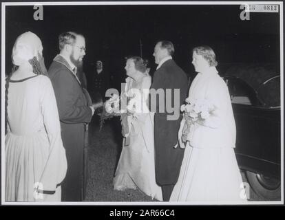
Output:
M237 130L235 153L240 168L280 177L280 109L264 107L257 92L240 78L228 78Z

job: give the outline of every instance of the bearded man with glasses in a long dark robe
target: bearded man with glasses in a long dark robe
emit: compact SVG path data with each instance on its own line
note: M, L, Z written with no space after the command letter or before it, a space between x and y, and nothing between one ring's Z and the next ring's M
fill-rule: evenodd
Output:
M87 123L98 107L76 76L85 56L85 39L74 32L59 35L60 54L48 71L61 120L61 135L67 157L67 174L62 183L62 201L82 201L83 146Z

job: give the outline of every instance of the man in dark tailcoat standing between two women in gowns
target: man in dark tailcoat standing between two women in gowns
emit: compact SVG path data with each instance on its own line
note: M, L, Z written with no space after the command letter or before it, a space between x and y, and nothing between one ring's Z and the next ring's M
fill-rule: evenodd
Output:
M169 201L173 187L178 180L184 155L184 149L174 148L174 146L178 143L178 130L182 119L180 105L187 98L188 84L187 75L172 59L173 53L174 47L170 41L159 41L156 44L154 58L158 67L154 73L149 97L150 110L153 111L155 108L156 111L154 115L156 182L162 187L163 201ZM171 91L171 96L167 90ZM151 98L153 91L156 93L164 91L165 94L164 102L156 99L154 108L151 107L154 105L151 103L153 102L151 99L154 98ZM173 104L172 114L169 109L173 107ZM165 111L160 112L161 109Z

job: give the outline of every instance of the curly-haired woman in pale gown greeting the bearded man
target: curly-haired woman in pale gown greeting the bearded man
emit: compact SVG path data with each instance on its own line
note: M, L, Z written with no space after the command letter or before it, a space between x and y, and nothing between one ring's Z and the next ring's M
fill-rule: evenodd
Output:
M140 57L128 58L125 69L129 77L120 97L127 98L128 110L121 117L125 137L113 181L114 189L138 188L152 199L162 200L154 170L154 114L149 112L146 104L151 77ZM130 103L136 109L130 109Z

